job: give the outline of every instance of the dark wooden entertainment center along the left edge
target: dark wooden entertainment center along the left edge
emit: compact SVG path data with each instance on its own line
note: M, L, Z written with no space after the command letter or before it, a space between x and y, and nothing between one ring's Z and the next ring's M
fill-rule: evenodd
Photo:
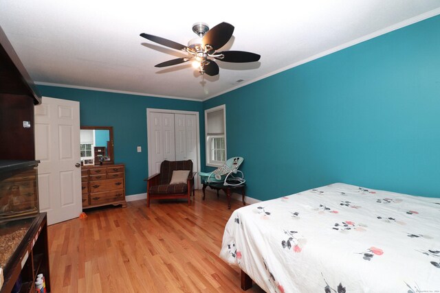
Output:
M21 283L19 292L35 292L39 273L50 292L47 215L38 209L36 104L41 95L0 27L0 293L10 293L16 283Z

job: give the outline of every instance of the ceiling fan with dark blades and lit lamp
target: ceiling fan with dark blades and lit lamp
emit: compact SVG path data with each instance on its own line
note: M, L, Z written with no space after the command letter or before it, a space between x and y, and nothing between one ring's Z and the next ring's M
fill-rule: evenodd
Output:
M216 52L223 47L232 37L234 26L229 23L219 23L218 25L209 29L206 23L195 23L192 25L192 32L195 32L198 38L193 38L188 42L188 46L181 45L152 34L140 34L140 36L152 40L155 43L170 47L176 50L188 53L188 57L168 60L155 65L155 67L167 67L177 65L184 62L192 61L192 67L199 69L199 73L203 75L206 73L210 76L219 74L219 65L212 60L217 59L223 62L255 62L260 60L259 54L254 54L245 51L222 51Z

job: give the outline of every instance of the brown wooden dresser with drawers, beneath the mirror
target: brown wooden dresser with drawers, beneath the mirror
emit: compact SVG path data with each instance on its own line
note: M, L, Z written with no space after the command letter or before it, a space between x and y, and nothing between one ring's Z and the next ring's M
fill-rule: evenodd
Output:
M125 201L125 167L119 165L95 165L81 167L83 209Z

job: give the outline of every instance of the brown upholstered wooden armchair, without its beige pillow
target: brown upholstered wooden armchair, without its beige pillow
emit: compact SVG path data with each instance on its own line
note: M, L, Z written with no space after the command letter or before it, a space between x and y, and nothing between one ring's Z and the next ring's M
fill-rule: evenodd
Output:
M170 185L173 171L189 170L186 183ZM188 198L190 205L191 193L194 196L194 177L197 172L192 172L192 161L163 161L160 165L160 173L154 174L146 179L147 200L146 206L150 207L150 200Z

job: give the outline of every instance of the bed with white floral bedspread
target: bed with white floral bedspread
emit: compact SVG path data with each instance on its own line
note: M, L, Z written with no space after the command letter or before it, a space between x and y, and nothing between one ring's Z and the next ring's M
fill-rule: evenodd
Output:
M258 202L220 257L266 292L440 292L440 198L335 183Z

